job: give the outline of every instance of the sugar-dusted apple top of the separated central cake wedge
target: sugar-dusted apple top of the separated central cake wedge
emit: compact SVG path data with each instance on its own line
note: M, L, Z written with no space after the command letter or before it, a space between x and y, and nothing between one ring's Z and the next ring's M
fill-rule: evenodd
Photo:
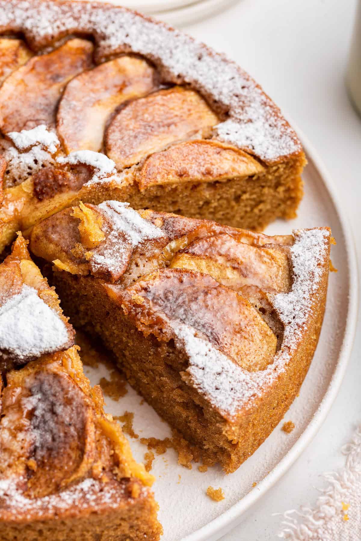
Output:
M104 280L141 332L175 340L187 381L228 419L299 346L329 245L328 228L271 237L118 201L63 210L30 240L58 269Z

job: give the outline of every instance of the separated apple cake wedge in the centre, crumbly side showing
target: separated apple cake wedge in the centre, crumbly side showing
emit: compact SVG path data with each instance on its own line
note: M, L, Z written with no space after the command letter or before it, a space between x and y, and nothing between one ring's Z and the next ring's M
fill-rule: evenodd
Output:
M30 248L73 324L101 337L207 463L232 472L299 392L330 240L329 228L267 236L106 201L44 220Z

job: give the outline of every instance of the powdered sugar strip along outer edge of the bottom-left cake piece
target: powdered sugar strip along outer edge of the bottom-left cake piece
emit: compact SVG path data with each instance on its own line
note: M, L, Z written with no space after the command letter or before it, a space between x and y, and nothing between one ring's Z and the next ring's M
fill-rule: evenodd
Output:
M23 478L1 479L0 500L7 502L11 509L17 509L18 516L25 518L29 514L29 518L34 519L34 512L38 516L54 516L57 511L71 511L74 507L78 510L89 507L97 510L104 506L116 509L124 499L124 490L119 483L104 484L93 478L84 479L57 494L30 499L17 488L22 481Z

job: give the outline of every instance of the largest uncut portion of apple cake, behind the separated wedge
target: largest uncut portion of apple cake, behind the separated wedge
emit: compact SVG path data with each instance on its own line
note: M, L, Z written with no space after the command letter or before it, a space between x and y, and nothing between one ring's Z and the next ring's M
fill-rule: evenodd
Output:
M0 252L80 201L261 230L292 218L305 155L237 64L96 2L0 0Z

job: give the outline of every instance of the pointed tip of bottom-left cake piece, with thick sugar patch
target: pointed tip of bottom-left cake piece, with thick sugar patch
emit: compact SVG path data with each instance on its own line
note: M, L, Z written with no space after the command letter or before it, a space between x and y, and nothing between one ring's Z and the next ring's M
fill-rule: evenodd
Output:
M21 235L0 265L0 370L67 349L74 331Z

